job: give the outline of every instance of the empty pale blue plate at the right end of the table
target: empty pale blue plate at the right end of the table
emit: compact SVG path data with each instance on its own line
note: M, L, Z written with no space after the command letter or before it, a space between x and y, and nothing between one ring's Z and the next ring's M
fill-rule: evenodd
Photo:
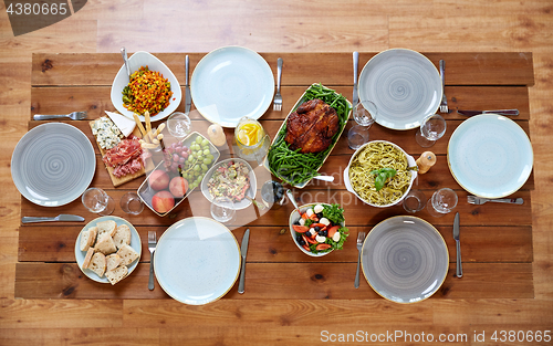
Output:
M481 114L462 122L448 145L453 178L470 193L500 198L519 190L533 166L532 144L513 120Z

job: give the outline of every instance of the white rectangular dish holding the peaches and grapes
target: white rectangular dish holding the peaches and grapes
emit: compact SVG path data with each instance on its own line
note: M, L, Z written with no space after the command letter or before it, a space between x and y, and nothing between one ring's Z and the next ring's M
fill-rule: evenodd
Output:
M217 149L217 147L211 143L209 141L208 138L206 138L205 136L202 136L200 133L198 132L192 132L190 133L187 137L185 137L182 139L182 145L184 146L187 146L187 147L190 147L192 145L192 143L197 139L197 138L201 138L201 139L205 139L207 140L208 143L208 146L209 146L209 153L213 156L213 159L211 160L211 164L207 165L208 167L212 167L217 160L219 159L220 157L220 151ZM165 171L167 175L168 175L168 180L169 180L169 186L166 187L166 188L163 188L163 189L157 189L157 188L153 188L149 184L149 180L150 180L150 176L155 172L155 171L159 171L159 170L163 170ZM159 192L159 191L168 191L169 195L167 195L167 198L169 198L169 196L171 195L170 192L170 180L173 180L173 178L176 178L176 177L180 177L179 172L178 171L167 171L166 168L165 168L165 160L161 160L156 167L155 169L153 169L150 172L148 172L148 175L146 176L146 179L144 179L143 184L138 187L138 190L137 190L137 195L138 197L142 199L142 201L144 202L144 205L146 205L152 211L154 211L157 216L159 217L165 217L167 216L168 213L170 213L175 208L177 208L194 190L195 190L195 186L192 186L192 182L188 181L187 180L187 190L186 190L186 193L182 196L182 197L175 197L173 195L173 198L174 198L174 207L170 208L170 210L166 211L166 212L158 212L154 206L153 206L153 198L154 196ZM187 179L188 177L185 177L185 179ZM152 178L154 179L154 177ZM160 178L160 179L165 179L165 178ZM156 179L154 179L155 181ZM201 185L200 185L201 186Z

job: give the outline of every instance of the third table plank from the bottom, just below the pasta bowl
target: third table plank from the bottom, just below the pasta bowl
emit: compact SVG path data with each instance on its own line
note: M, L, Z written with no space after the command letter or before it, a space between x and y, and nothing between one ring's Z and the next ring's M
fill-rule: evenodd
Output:
M125 193L125 190L108 190L108 195L116 201ZM461 226L531 226L532 206L530 202L530 191L519 191L517 197L522 197L525 201L522 206L515 205L504 205L504 203L491 203L488 202L482 206L473 206L467 202L467 192L458 190L457 195L460 202L458 203L456 211L461 214ZM369 208L361 200L355 198L355 196L345 190L309 190L309 191L296 191L295 197L299 201L303 203L311 203L313 201L340 203L341 206L346 206L345 218L347 224L349 226L372 226L380 222L384 219L396 214L405 214L405 210L401 206L393 206L388 208ZM182 201L175 210L167 217L160 218L156 216L152 210L145 208L139 216L128 216L125 214L118 207L114 211L114 216L126 218L129 222L138 226L152 226L152 224L163 224L170 226L176 220L191 216L202 216L210 217L209 208L210 202L204 197L200 191L192 191L188 199ZM52 210L53 209L53 210ZM237 220L250 226L286 226L290 212L292 212L293 207L291 203L286 202L285 206L279 209L265 210L261 213L262 217L258 216L258 210L255 208L247 208L239 210L237 212ZM74 213L83 216L90 222L97 216L85 210L85 207L80 200L75 200L61 208L48 208L36 206L24 198L21 198L21 214L22 216L45 216L55 217L60 212L63 213ZM428 220L435 226L449 226L453 222L453 212L450 212L441 218L432 218L425 210L417 212L417 216ZM66 222L66 224L71 224ZM75 223L73 223L75 224ZM229 226L234 229L236 226Z

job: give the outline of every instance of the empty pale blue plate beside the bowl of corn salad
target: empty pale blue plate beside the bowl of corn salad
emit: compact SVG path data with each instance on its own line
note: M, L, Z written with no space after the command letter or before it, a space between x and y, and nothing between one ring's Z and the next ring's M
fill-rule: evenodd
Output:
M274 77L252 50L225 46L204 56L190 81L196 109L209 122L236 127L243 116L259 119L272 103Z

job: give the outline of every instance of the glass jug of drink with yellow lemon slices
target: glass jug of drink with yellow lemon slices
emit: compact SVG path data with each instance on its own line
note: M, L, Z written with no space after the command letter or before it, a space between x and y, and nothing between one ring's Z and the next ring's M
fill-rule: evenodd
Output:
M234 129L237 155L247 161L263 164L271 139L258 120L242 117Z

